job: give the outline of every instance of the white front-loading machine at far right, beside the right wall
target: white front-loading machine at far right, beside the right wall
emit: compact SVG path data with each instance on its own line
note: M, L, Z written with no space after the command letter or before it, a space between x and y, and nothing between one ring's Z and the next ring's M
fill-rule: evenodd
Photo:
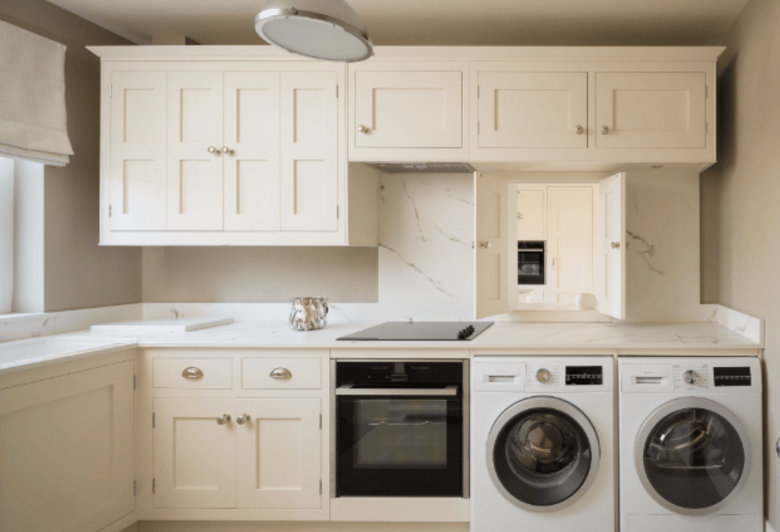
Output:
M619 360L622 532L761 532L761 364Z

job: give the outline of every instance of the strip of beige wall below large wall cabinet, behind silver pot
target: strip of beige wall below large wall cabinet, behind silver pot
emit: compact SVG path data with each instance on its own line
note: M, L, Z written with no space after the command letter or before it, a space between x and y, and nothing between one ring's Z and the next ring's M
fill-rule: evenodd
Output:
M147 247L144 303L376 303L375 247Z

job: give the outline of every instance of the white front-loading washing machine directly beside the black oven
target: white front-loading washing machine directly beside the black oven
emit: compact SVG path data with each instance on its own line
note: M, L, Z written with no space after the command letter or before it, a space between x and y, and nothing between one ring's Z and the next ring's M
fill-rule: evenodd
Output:
M472 363L473 532L615 530L615 361Z

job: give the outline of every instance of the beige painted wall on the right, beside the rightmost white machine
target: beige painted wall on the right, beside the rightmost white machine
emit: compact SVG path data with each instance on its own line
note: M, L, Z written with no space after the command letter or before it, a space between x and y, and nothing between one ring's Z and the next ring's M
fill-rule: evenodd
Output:
M767 513L780 530L780 2L750 0L723 44L720 163L702 176L702 256L718 261L703 292L766 320Z

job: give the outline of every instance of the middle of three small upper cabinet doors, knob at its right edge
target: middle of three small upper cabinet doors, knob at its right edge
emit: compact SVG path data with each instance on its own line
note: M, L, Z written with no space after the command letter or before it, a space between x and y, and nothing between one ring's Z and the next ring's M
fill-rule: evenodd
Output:
M587 73L480 72L478 113L479 147L587 147Z

